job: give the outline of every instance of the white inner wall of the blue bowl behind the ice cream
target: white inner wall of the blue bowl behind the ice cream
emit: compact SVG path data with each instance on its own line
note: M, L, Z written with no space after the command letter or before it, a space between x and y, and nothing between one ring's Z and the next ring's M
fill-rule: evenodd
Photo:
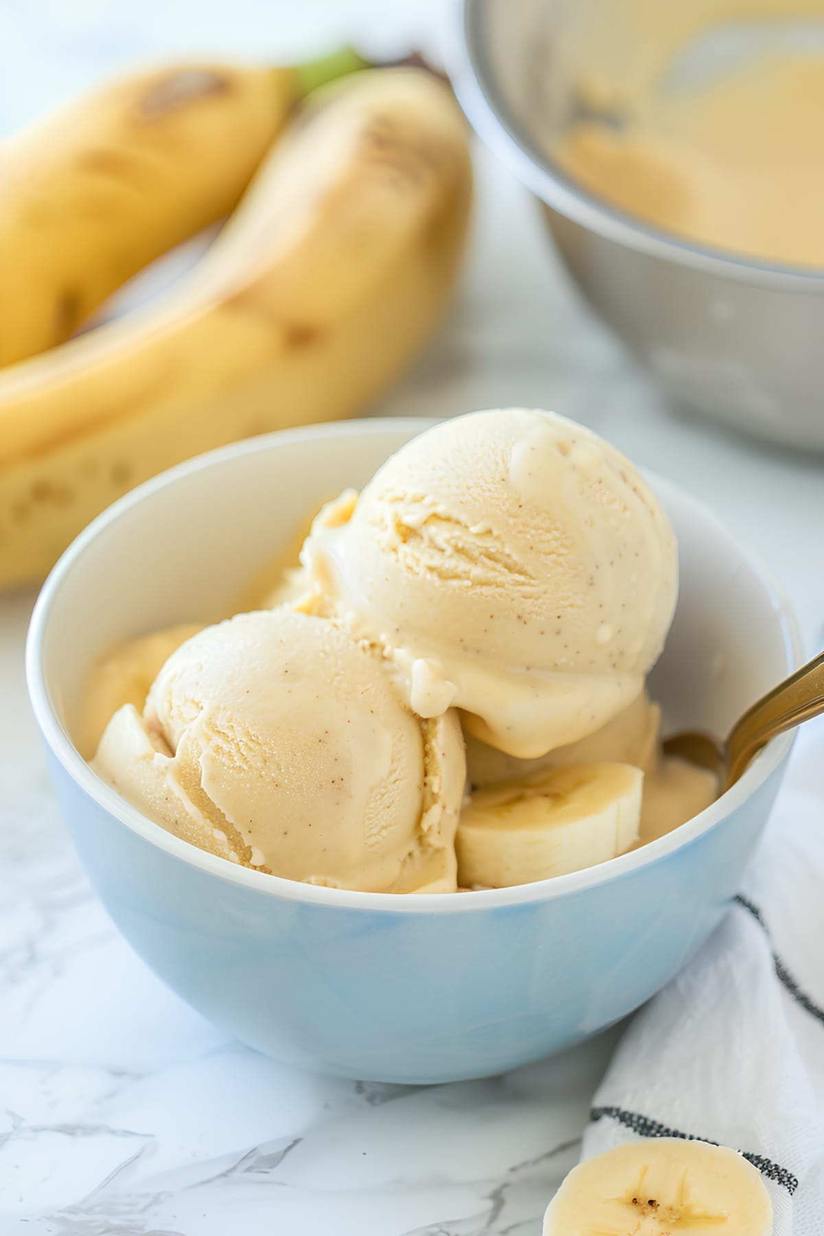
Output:
M47 586L42 672L69 738L95 660L172 623L232 612L251 577L306 518L362 486L421 420L273 434L203 456L141 487L74 543ZM714 517L652 477L681 548L681 597L651 679L668 728L724 732L794 664L792 623Z

